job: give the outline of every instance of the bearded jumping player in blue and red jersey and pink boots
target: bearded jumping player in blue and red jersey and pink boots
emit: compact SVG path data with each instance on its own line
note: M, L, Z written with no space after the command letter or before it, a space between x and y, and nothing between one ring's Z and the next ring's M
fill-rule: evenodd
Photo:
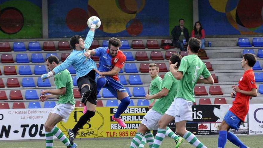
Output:
M87 50L84 55L86 57L95 55L100 58L99 68L95 70L97 72L95 78L95 81L97 81L97 93L100 92L100 89L107 88L114 97L121 101L117 112L112 116L112 120L117 121L120 126L126 127L120 115L129 106L130 97L117 75L126 61L126 56L119 50L120 46L121 41L113 37L109 39L108 47Z

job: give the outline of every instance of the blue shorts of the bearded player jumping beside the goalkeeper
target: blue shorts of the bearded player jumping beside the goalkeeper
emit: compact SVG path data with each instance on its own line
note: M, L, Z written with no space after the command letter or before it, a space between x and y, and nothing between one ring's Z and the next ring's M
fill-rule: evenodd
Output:
M97 79L100 75L96 73L96 78L95 78L95 81L97 82ZM117 97L117 91L120 91L120 92L126 92L126 89L125 87L122 85L122 83L120 83L120 81L116 81L114 80L112 77L109 77L109 76L105 76L106 78L106 84L103 88L107 88L111 94L114 95L114 97L118 98ZM99 92L97 92L99 93Z

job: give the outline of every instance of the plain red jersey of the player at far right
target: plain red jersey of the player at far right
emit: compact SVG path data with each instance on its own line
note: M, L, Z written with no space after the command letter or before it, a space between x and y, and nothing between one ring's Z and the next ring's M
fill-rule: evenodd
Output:
M238 88L244 91L251 91L251 89L256 89L255 75L252 69L244 72L243 76L238 82ZM233 114L235 114L243 122L248 112L250 96L236 93L236 98L233 101L232 107L229 109Z

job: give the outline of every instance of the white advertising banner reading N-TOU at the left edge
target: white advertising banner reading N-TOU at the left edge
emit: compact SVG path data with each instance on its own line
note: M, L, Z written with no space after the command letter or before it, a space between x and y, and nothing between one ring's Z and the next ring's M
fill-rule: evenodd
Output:
M0 141L45 139L44 123L51 109L1 109Z

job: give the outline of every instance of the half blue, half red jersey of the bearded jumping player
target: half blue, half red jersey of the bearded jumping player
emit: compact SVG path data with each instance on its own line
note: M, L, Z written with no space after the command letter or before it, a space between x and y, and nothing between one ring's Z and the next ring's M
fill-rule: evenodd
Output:
M111 71L115 66L121 69L126 61L126 56L120 50L115 57L111 57L108 47L99 47L94 49L94 51L95 56L100 58L98 71ZM111 77L119 81L117 74Z

